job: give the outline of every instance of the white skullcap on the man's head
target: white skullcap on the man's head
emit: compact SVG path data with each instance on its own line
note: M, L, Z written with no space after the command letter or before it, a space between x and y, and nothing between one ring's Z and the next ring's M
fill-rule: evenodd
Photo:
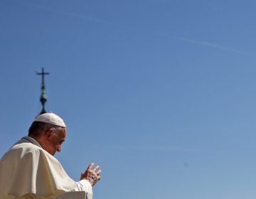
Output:
M48 123L48 124L54 124L59 127L66 127L63 119L58 117L57 114L49 113L49 112L38 115L38 117L36 117L34 122L44 122L44 123Z

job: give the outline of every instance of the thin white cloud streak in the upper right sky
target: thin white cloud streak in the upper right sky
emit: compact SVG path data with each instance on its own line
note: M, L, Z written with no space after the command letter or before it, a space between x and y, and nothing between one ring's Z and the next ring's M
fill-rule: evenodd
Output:
M210 42L206 42L206 41L197 41L197 40L194 40L194 39L191 39L191 38L183 38L183 37L178 37L178 40L186 41L188 43L194 43L196 45L204 45L204 46L207 46L207 47L210 47L210 48L216 48L216 49L219 49L219 50L225 50L225 51L228 51L228 52L231 52L231 53L238 53L240 55L247 55L247 56L250 56L250 57L255 57L255 55L253 55L252 53L247 53L247 52L244 52L242 50L235 49L235 48L229 48L227 46L219 45L217 43L210 43Z

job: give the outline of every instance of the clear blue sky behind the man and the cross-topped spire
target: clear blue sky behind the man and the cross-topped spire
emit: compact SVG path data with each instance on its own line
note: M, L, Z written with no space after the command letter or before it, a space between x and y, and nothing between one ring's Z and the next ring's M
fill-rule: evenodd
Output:
M0 1L0 156L41 111L95 199L255 198L255 1Z

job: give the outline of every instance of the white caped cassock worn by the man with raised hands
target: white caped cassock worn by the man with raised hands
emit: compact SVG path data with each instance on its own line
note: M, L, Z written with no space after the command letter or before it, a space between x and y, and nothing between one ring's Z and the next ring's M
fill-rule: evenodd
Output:
M0 198L55 198L80 190L92 199L92 185L86 180L73 181L60 162L29 136L0 160Z

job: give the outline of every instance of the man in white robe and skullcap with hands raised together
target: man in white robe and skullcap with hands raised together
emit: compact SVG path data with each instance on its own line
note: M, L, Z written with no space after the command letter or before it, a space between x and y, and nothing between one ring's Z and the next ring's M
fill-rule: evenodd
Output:
M0 198L55 198L70 191L85 191L92 199L92 185L100 180L100 166L93 163L79 182L73 181L53 157L65 141L63 119L41 114L31 124L28 136L16 142L0 160Z

